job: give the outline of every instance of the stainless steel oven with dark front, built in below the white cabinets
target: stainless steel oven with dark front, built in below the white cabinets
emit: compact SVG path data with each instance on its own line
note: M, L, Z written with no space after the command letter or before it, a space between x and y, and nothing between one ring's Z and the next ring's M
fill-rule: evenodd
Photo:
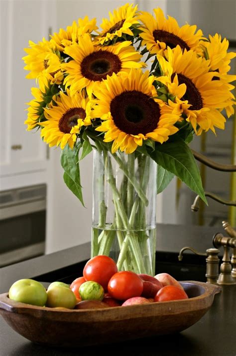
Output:
M45 251L46 185L0 192L0 267Z

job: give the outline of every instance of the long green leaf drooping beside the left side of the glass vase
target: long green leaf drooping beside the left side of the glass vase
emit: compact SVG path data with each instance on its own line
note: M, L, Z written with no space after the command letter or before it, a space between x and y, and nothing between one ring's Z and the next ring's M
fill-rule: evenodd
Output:
M74 193L84 206L82 187L80 182L80 166L79 166L79 149L71 149L68 145L61 152L61 165L65 173L63 175L64 182L67 187Z

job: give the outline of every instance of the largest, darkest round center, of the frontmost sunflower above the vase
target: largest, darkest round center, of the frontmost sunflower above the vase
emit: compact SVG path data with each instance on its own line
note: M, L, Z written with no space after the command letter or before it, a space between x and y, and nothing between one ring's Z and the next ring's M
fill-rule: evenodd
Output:
M123 92L110 104L115 125L123 132L146 134L157 128L160 109L148 95L136 90Z

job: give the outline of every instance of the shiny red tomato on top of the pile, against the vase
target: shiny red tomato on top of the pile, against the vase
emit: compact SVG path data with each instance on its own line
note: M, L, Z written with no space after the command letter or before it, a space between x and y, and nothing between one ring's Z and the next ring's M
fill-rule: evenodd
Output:
M83 275L87 281L101 284L106 291L109 280L116 272L116 262L111 257L99 255L91 258L86 263Z

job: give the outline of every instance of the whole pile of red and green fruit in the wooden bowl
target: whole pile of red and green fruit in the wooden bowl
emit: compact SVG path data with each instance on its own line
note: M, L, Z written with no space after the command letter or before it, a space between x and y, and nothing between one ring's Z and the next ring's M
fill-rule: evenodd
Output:
M70 285L55 281L46 291L37 281L21 279L10 287L9 298L49 308L97 309L187 299L188 296L182 285L168 273L153 277L131 271L117 272L111 257L99 255L86 263L83 276ZM91 303L80 304L86 300Z

